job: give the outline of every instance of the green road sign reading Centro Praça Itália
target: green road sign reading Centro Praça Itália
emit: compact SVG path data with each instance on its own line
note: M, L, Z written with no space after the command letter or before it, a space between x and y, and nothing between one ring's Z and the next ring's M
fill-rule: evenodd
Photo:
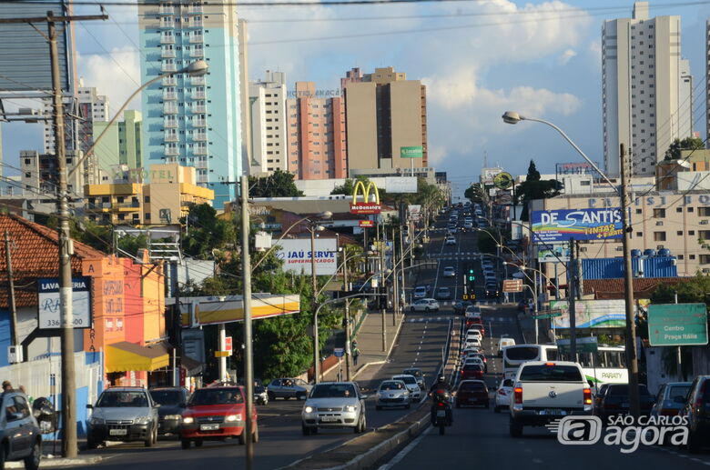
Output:
M648 341L652 346L707 345L705 304L648 305Z

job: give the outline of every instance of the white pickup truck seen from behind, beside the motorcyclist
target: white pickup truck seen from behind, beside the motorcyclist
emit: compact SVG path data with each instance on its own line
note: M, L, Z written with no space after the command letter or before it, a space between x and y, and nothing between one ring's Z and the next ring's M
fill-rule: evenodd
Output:
M568 415L592 415L592 389L573 362L531 361L518 368L512 385L510 433L522 426L546 425Z

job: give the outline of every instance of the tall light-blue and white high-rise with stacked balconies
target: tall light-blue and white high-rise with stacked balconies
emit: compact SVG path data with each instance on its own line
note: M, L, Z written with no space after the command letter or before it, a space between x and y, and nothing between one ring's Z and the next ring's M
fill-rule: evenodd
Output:
M164 76L143 92L143 165L194 166L218 205L242 174L240 57L233 2L173 0L138 5L141 81L204 60L207 75Z

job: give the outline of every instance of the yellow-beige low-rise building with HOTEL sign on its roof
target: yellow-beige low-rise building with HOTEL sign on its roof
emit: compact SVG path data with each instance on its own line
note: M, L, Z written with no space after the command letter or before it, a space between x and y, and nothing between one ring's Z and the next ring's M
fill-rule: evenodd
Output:
M176 224L190 205L208 203L215 192L198 186L196 170L177 164L151 165L149 172L129 171L124 179L86 185L86 213L98 223ZM149 180L149 184L142 181Z

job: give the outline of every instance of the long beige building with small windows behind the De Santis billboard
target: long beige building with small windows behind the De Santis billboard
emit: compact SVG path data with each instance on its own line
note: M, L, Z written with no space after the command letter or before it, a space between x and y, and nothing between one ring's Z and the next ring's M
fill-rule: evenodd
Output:
M531 210L619 206L618 196L594 193L535 200ZM636 193L631 205L631 222L632 249L671 250L671 255L678 260L678 275L710 273L710 190ZM583 242L580 255L586 258L621 256L621 240Z

